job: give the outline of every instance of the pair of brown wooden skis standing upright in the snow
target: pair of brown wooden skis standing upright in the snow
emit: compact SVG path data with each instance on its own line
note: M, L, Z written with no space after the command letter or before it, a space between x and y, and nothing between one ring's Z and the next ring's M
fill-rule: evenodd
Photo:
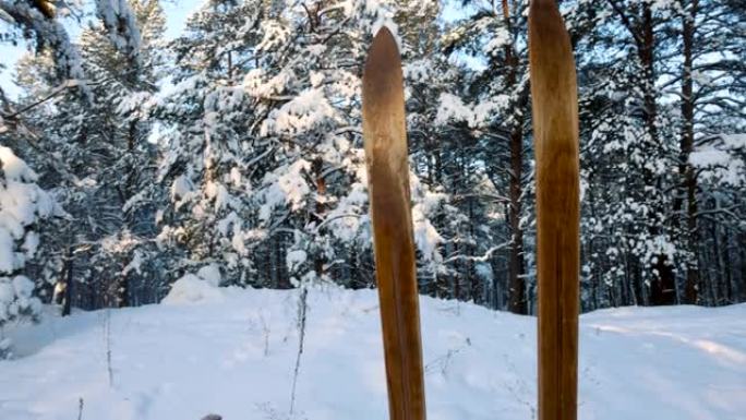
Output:
M537 160L539 419L577 416L579 164L575 60L554 0L532 0L529 60ZM425 398L401 61L383 28L363 73L363 136L392 420Z

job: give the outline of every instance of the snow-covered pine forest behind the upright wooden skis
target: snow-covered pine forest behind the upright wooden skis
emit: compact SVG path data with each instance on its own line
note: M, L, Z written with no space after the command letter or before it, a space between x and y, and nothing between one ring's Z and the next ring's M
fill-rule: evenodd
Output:
M374 286L360 87L405 65L420 291L536 310L528 1L0 0L0 325L53 298ZM565 0L581 308L746 301L746 8ZM72 35L76 34L76 35ZM5 67L3 58L0 67ZM20 92L11 95L13 91Z

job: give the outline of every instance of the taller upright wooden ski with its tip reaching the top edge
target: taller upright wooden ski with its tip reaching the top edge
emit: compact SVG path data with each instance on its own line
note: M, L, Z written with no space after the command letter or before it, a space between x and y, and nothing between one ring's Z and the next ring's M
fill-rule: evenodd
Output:
M554 0L531 0L529 65L537 169L539 420L575 420L578 389L578 98Z

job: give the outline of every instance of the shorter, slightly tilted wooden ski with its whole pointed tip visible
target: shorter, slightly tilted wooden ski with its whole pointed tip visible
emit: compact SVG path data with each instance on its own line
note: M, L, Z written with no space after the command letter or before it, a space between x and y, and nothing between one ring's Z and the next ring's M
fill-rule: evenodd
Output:
M404 80L396 40L385 27L368 51L362 120L389 418L424 420Z

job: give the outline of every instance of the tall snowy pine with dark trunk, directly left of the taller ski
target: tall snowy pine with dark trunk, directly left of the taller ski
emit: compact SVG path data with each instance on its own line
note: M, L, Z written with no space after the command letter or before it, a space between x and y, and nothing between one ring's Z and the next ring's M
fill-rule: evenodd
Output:
M476 165L489 168L489 181L501 191L492 200L504 207L507 226L502 235L509 243L507 255L507 308L515 313L528 313L530 296L527 286L524 232L529 224L531 175L526 159L528 127L528 55L526 50L526 3L502 1L469 2L473 13L450 29L450 50L460 50L483 60L468 79L467 100L473 101L477 116L484 119L477 133L478 147L483 153ZM470 125L474 128L474 123ZM505 169L501 169L505 168ZM528 205L527 205L528 204ZM503 220L495 220L493 224ZM501 241L503 242L503 241Z

